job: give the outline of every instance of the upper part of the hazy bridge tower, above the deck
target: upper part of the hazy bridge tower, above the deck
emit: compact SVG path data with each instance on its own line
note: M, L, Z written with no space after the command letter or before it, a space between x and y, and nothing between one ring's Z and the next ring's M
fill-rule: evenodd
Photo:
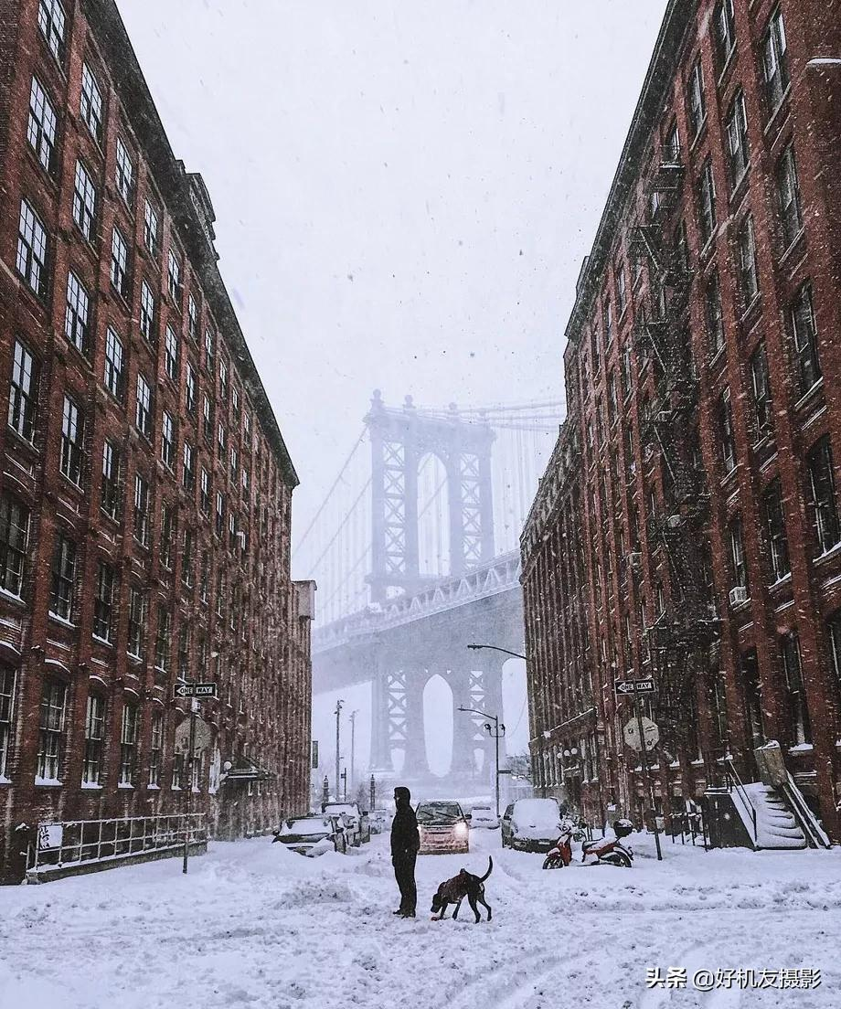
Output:
M371 596L423 587L418 552L418 468L427 453L446 472L449 573L462 574L494 557L494 500L491 449L495 434L487 421L465 424L454 404L444 416L415 409L387 408L375 389L364 418L372 446Z

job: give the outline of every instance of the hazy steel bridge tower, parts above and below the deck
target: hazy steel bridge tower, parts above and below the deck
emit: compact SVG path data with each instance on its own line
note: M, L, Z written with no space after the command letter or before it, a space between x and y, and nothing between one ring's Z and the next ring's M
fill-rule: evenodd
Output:
M418 411L410 396L402 408L388 408L375 389L364 418L372 445L372 570L374 602L413 595L439 579L421 574L418 529L418 471L427 454L446 474L449 575L458 576L494 559L494 500L491 453L496 435L484 418L465 423L454 404L445 413ZM423 689L439 672L452 691L453 708L501 704L500 687L474 670L466 652L435 661L432 642L418 640L401 669L380 669L374 683L373 763L389 769L393 747L404 751L404 770L423 777L425 756ZM463 645L462 645L463 650ZM499 680L499 676L495 677ZM499 699L498 699L499 698ZM488 740L475 719L453 712L452 771L476 770L475 749Z

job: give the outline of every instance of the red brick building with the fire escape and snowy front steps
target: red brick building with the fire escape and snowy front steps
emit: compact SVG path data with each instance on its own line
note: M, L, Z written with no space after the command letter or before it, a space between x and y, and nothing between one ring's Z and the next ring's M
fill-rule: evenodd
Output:
M582 269L522 549L535 774L596 819L651 676L659 812L776 740L841 835L839 54L837 0L671 0Z

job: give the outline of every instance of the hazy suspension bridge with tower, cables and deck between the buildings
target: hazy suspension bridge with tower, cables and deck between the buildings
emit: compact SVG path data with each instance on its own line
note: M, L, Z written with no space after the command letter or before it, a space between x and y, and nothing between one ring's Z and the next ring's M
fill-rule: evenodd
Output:
M371 683L371 770L429 778L423 692L450 688L448 776L485 777L502 667L523 649L519 536L554 447L558 401L389 407L363 427L293 552L318 584L313 690Z

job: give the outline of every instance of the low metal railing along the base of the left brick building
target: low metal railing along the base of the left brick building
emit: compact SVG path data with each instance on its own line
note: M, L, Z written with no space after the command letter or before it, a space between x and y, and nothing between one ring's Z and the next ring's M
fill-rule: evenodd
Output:
M112 862L145 852L206 843L204 813L39 823L30 842L26 872Z

